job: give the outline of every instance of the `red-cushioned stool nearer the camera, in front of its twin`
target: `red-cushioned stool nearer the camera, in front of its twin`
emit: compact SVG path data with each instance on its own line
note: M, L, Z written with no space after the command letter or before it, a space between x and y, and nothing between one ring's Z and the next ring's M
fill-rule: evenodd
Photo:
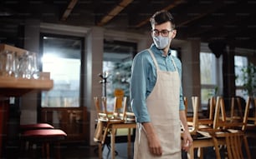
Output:
M43 157L49 158L49 144L52 143L56 147L57 158L60 158L59 145L60 141L64 140L67 134L60 129L37 129L28 130L21 134L22 141L28 142L28 151L31 150L33 144L41 144ZM46 154L45 154L46 153Z

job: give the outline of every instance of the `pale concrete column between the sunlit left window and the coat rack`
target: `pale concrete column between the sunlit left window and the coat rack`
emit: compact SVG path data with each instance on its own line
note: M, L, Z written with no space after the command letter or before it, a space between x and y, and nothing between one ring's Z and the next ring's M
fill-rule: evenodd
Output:
M85 61L85 106L90 113L90 145L95 145L93 141L95 133L96 112L93 97L102 96L102 86L100 84L99 73L102 72L103 52L104 52L104 29L102 27L92 27L86 39Z

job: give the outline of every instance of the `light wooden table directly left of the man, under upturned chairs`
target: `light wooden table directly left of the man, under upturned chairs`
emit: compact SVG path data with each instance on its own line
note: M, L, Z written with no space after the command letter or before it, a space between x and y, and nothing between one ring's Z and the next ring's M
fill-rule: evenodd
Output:
M136 122L123 122L123 123L114 123L111 124L111 158L115 158L115 132L116 129L119 128L128 128L128 136L127 136L127 154L128 158L131 157L131 129L136 128Z

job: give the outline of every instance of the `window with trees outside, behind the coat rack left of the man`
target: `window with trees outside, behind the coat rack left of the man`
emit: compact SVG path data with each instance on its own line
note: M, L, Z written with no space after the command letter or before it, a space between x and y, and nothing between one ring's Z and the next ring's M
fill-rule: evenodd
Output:
M108 75L103 84L103 96L113 99L116 89L122 90L124 96L130 97L130 77L132 59L136 54L136 43L106 41L104 43L103 74ZM108 110L111 110L114 101L108 100ZM131 108L128 102L128 108Z

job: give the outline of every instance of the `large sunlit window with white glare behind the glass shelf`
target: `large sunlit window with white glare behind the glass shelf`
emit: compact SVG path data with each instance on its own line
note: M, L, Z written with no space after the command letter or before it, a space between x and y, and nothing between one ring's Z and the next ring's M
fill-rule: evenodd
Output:
M80 65L83 40L43 35L42 71L50 72L54 87L42 92L41 107L79 107Z

